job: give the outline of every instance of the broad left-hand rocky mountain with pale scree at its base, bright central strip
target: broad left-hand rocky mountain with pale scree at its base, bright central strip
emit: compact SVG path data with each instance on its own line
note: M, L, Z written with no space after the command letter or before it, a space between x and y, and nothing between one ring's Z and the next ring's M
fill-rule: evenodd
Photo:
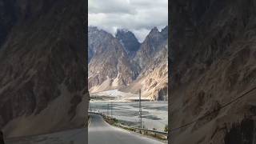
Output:
M113 89L130 84L137 73L117 38L104 30L89 27L90 92Z

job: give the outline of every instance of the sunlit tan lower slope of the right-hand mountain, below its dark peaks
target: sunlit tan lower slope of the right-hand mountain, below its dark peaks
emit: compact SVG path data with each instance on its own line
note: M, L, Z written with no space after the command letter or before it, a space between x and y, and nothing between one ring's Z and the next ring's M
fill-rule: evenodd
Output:
M119 90L138 94L142 90L142 97L151 100L167 100L168 82L168 44L167 41L158 46L159 51L150 58L150 61L138 75L138 78L129 86Z

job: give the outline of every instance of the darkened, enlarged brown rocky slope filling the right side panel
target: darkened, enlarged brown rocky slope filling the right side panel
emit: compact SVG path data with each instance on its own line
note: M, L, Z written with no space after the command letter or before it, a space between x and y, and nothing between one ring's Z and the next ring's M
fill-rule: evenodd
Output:
M255 142L244 130L255 127L256 92L232 102L256 84L255 7L254 1L170 1L170 128L200 118L171 131L171 143Z

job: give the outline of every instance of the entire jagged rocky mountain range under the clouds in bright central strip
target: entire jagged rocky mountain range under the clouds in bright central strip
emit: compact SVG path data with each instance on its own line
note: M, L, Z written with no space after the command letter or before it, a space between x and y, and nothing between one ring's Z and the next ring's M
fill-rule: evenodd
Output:
M90 92L119 88L136 93L142 89L142 96L166 100L167 38L167 26L161 32L154 27L141 46L129 30L118 30L114 38L89 27Z

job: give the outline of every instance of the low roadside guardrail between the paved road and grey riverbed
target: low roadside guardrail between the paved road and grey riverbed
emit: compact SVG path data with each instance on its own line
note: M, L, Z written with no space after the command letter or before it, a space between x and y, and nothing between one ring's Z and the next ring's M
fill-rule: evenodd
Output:
M105 115L105 114L102 114L102 113L97 113L97 112L89 112L89 113L90 113L90 114L99 114L99 115L101 115L102 117L106 117L106 115ZM125 128L125 129L133 130L133 131L142 130L142 131L154 133L154 135L156 135L156 134L161 134L161 135L166 136L166 138L168 138L168 133L162 132L162 131L148 130L148 129L143 129L143 128L139 128L139 127L130 127L130 126L123 126L123 125L118 125L118 126L119 126L119 127L122 127L122 128ZM141 132L140 132L140 133L141 133Z

